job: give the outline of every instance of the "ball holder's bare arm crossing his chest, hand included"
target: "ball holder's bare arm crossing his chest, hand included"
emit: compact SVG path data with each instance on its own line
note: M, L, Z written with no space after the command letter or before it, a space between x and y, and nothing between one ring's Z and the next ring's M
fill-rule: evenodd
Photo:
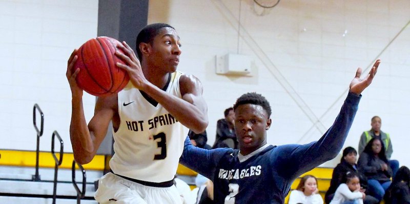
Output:
M182 75L179 85L182 99L172 96L150 83L142 73L141 65L134 51L123 42L118 45L124 54L116 52L127 65L118 63L117 66L127 70L131 83L144 91L159 104L167 109L182 125L195 133L203 132L208 126L207 105L202 97L202 84L192 75Z

